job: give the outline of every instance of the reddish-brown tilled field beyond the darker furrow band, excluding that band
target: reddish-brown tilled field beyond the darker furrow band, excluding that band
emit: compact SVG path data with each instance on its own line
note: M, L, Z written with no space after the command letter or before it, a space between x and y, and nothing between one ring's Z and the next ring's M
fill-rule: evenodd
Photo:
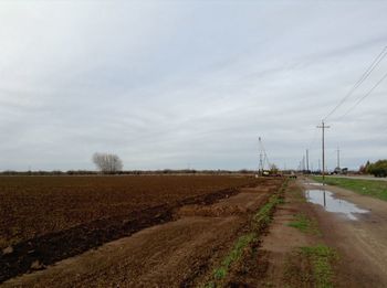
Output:
M258 181L234 175L1 177L0 249Z

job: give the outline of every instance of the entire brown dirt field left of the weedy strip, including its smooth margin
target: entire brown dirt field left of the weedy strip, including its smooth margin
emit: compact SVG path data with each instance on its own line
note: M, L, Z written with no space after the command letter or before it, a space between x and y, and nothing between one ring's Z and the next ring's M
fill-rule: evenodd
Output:
M48 179L51 182L48 183ZM67 268L60 269L60 273L55 270L55 267L61 266L59 264L50 266L42 273L45 275L54 269L55 276L49 277L49 281L50 279L56 281L63 274L65 279L71 279L70 282L64 282L64 286L77 282L83 286L88 281L101 285L121 282L129 286L133 281L144 285L149 282L188 285L197 278L197 274L206 270L202 266L210 263L217 250L223 250L227 244L232 242L243 227L242 224L249 213L270 193L278 190L282 181L240 177L71 178L74 181L70 181L71 183L66 178L21 180L30 181L29 185L27 182L18 182L17 178L8 179L8 185L3 182L1 184L2 195L8 198L1 205L13 212L15 217L12 222L12 214L8 215L9 222L14 226L21 223L18 226L21 230L27 226L23 218L30 216L34 218L34 222L31 222L32 227L38 225L40 228L45 228L46 223L55 221L59 224L52 226L54 232L41 228L39 230L41 235L34 232L33 235L38 236L3 248L0 255L1 279L43 269L54 263L63 263L63 267ZM247 188L243 190L244 193L238 194L241 191L240 186L258 188L252 190ZM33 207L23 206L25 199ZM221 199L224 200L218 203ZM21 209L11 210L11 203L19 204ZM70 221L62 222L64 216L61 213L49 213L56 211L55 203L57 211L63 212L67 207L77 211L77 216L74 217L70 212L65 213ZM79 209L74 210L74 206ZM52 215L52 218L50 217ZM39 220L43 223L39 223ZM4 231L7 221L2 221ZM163 225L154 226L156 224ZM43 233L44 231L46 233ZM136 233L138 231L139 233ZM136 234L127 237L133 233ZM114 242L115 239L117 241ZM108 244L96 252L91 250L104 243ZM112 248L119 246L119 243L124 243L122 248ZM101 250L103 260L97 258ZM84 252L86 253L82 254ZM74 265L74 260L77 259L74 256L79 254L82 254L77 256L81 257L81 263L84 263L82 256L92 255L86 257L91 259L86 260L86 268ZM61 262L65 258L69 259ZM187 262L187 258L194 263ZM66 263L71 265L66 266ZM168 263L177 266L172 268ZM95 265L102 266L95 267ZM112 268L106 268L104 265ZM146 276L150 273L149 269L151 271L160 269L157 274L159 276ZM176 277L168 276L165 269L170 269ZM66 275L67 270L75 273L76 277ZM27 278L33 278L34 275L40 273L29 275ZM166 278L163 280L161 276ZM45 278L42 276L38 279L41 281Z

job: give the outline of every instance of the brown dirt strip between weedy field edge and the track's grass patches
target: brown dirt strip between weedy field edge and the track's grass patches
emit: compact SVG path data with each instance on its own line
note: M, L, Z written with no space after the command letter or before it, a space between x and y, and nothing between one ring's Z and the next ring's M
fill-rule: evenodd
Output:
M290 284L286 278L289 257L294 257L297 247L311 245L317 238L317 235L303 234L287 226L295 214L313 214L301 193L301 188L291 182L284 194L284 204L278 205L260 243L244 253L243 262L229 280L229 287L286 287ZM305 287L303 279L296 280L292 287Z

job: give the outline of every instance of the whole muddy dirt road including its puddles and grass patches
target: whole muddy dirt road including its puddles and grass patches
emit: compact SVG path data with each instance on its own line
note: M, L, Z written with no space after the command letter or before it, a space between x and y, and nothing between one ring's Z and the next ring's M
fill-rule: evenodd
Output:
M290 184L240 287L387 287L387 202L324 190L308 179ZM332 255L316 262L305 248Z

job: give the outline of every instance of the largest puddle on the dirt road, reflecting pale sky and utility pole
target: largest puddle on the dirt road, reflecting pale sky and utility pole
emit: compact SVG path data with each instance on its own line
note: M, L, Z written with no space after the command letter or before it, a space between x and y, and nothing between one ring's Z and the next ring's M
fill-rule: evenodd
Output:
M308 202L322 205L327 212L343 213L351 220L357 220L355 213L368 213L369 211L358 209L355 204L333 198L333 193L325 190L306 190L305 196Z

